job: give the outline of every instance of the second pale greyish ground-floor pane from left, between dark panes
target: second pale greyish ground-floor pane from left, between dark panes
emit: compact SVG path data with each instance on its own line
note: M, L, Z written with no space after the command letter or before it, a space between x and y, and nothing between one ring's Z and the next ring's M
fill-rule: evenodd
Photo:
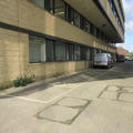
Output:
M65 44L55 41L55 61L64 61L65 60Z

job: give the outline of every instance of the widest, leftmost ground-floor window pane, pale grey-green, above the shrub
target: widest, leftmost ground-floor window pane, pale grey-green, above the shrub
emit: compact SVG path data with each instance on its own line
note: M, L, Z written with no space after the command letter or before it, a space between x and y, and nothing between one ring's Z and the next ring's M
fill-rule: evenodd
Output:
M43 38L29 37L30 62L38 63L45 61L45 40Z

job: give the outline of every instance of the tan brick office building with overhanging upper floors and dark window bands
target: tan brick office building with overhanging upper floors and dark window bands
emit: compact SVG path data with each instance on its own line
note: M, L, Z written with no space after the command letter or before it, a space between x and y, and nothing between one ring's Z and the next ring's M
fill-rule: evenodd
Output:
M122 0L0 0L0 83L86 70L124 41Z

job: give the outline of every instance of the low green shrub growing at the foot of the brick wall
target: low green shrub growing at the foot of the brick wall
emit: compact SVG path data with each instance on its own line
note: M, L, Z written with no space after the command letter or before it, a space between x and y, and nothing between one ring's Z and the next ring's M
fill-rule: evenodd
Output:
M25 86L27 84L32 83L32 82L34 82L34 75L31 75L31 76L24 75L24 76L20 76L17 80L14 80L13 85L16 88Z

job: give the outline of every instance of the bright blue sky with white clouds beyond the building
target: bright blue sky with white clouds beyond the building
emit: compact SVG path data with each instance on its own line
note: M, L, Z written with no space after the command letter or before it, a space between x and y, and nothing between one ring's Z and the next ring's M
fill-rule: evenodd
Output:
M125 42L117 44L133 52L133 0L123 0L125 11Z

